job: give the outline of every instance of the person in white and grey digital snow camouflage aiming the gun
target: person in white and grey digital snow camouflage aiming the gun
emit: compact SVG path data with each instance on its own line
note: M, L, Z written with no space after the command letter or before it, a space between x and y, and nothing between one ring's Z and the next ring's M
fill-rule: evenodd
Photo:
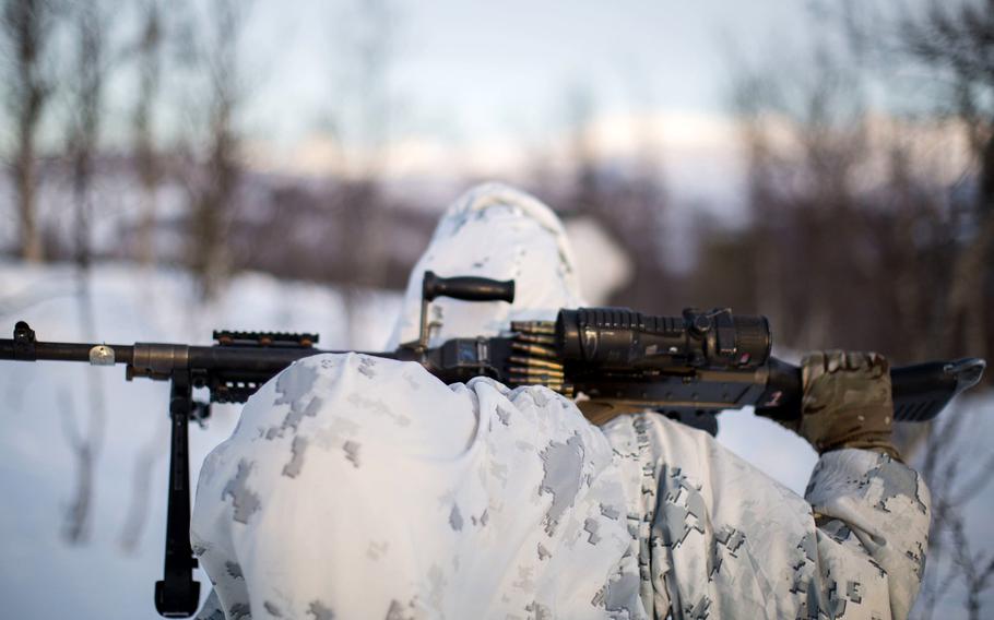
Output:
M580 305L561 225L504 186L448 210L390 346L416 337L426 270L519 287L511 306L438 300L436 343ZM542 386L322 355L204 462L198 618L903 618L928 506L886 454L825 454L801 498L660 415L595 427Z

